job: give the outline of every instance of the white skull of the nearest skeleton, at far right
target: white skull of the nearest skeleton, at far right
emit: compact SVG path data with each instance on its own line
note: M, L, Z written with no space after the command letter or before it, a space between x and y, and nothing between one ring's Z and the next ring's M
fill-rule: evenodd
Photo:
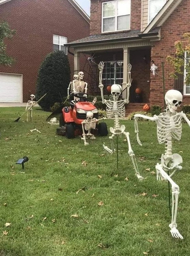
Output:
M165 94L165 101L171 113L175 112L182 103L183 96L180 91L169 90Z

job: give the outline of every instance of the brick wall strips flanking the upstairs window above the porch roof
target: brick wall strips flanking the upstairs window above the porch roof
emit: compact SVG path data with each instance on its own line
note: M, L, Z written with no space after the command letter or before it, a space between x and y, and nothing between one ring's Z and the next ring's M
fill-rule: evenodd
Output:
M107 0L91 0L90 34L101 34L102 2ZM141 28L141 1L131 0L131 30Z

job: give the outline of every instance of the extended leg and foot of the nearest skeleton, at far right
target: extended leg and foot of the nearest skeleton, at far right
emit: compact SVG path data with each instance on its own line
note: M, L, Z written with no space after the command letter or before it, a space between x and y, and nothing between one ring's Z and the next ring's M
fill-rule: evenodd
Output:
M182 235L177 230L177 207L178 207L178 198L179 198L179 186L167 175L167 173L163 170L161 164L156 165L156 170L159 172L161 177L168 180L171 184L172 190L172 216L171 216L171 223L169 224L170 233L175 238L183 239Z

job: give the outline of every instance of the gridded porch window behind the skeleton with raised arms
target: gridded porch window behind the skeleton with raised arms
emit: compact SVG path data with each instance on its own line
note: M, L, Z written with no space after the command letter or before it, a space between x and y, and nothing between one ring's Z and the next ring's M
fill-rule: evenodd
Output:
M119 84L123 82L123 61L109 61L104 63L102 72L104 85Z

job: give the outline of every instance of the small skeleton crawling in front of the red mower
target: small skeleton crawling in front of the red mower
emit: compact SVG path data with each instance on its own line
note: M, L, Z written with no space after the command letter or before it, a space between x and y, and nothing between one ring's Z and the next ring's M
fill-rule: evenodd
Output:
M91 140L94 140L95 137L94 135L91 133L91 129L95 129L96 128L96 124L102 120L102 119L106 119L105 117L104 118L100 118L100 119L96 119L96 118L93 118L93 113L91 111L88 111L86 113L86 120L84 120L81 124L82 124L82 131L83 131L83 134L82 134L82 140L84 140L84 145L87 146L89 143L86 142L86 138L90 138ZM85 133L85 131L88 131L87 133Z

